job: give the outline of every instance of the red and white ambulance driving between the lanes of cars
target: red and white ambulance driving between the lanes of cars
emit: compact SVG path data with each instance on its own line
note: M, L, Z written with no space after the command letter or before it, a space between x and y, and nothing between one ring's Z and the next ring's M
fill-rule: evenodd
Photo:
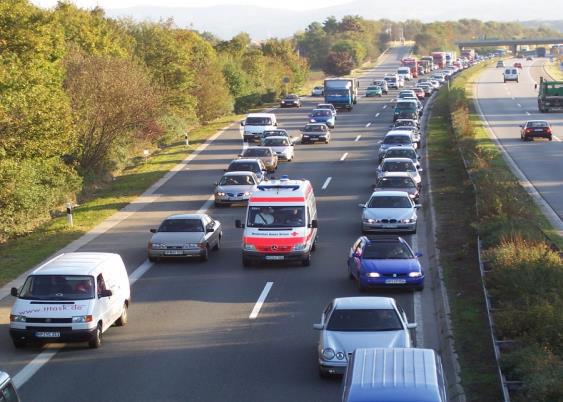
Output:
M260 184L251 194L243 228L242 265L255 262L311 263L317 244L317 205L308 180L282 176Z

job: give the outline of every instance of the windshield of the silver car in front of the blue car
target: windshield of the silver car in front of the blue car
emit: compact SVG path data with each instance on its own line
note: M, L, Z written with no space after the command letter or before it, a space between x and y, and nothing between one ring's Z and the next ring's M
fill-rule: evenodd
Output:
M337 309L332 312L328 331L400 331L399 315L392 309Z

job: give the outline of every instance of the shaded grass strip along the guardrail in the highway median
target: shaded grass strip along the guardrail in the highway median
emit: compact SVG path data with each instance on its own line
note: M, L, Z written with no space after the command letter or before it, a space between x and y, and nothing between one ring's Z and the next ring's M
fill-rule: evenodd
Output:
M478 269L475 194L461 156L454 151L447 101L443 90L432 107L427 131L440 264L467 400L498 401L500 387Z

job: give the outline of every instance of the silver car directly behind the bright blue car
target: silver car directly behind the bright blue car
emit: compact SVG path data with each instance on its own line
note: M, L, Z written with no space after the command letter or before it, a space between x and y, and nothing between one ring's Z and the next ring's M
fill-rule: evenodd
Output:
M368 202L358 204L362 210L362 233L416 233L420 208L405 191L374 191Z

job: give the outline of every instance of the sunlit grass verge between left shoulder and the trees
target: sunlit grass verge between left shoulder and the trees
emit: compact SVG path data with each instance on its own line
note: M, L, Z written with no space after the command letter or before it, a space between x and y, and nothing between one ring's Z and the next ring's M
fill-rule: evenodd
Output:
M189 147L178 141L151 155L145 163L125 169L107 187L89 194L74 210L74 226L66 216L52 219L33 233L0 245L0 286L40 263L45 258L84 235L141 195L175 165L180 163L207 138L242 116L226 116L190 132Z

